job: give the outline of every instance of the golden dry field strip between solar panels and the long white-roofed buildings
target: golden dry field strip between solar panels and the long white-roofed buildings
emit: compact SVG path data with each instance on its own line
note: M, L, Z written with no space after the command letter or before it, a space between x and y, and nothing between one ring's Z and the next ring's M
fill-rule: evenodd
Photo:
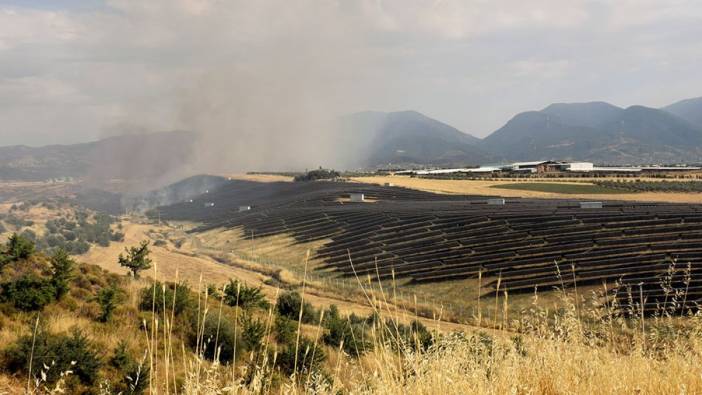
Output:
M593 199L593 200L625 200L639 202L668 202L668 203L702 203L702 193L680 192L641 192L641 193L611 193L611 194L564 194L524 190L491 188L494 185L514 184L513 180L433 180L412 178L407 176L354 177L353 181L369 184L384 185L392 183L396 186L419 189L423 191L447 194L487 195L525 198L561 198L561 199ZM568 183L560 179L534 179L517 182L551 182ZM573 181L573 180L568 180ZM648 181L648 180L647 180Z

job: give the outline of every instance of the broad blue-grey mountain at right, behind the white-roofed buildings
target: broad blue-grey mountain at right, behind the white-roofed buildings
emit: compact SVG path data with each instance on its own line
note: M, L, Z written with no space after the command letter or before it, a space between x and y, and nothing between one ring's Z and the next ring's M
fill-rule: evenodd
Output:
M509 160L610 164L702 161L702 128L669 112L603 102L553 104L521 113L480 147Z

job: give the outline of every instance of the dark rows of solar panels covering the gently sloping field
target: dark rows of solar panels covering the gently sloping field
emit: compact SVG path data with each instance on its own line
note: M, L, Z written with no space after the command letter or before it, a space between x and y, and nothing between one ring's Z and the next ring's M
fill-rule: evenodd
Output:
M345 199L358 193L367 201ZM195 231L328 239L316 251L320 269L342 276L427 283L480 275L487 295L607 283L622 302L633 293L647 310L702 299L702 204L580 203L493 205L486 196L390 186L232 181L158 214L204 224Z

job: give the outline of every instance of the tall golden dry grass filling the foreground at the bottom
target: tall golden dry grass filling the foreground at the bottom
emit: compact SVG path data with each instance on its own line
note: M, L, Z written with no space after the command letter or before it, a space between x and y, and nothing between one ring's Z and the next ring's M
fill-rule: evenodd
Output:
M156 268L154 268L154 271ZM157 278L154 273L154 278ZM175 279L178 280L177 278ZM482 303L501 309L500 314L481 316L484 327L464 332L435 332L434 342L424 349L419 334L408 339L398 322L405 310L393 299L395 290L356 279L359 292L380 318L369 328L371 352L353 358L320 341L323 317L316 326L297 323L296 347L303 333L313 345L302 358L323 347L329 358L321 370L298 370L282 381L276 377L278 345L272 340L275 305L263 313L266 334L260 348L221 364L205 358L205 322L222 317L223 297L213 298L197 285L197 345L195 350L174 337L178 322L175 298L170 309L156 313L142 325L145 350L141 364L152 394L695 394L702 393L702 316L692 311L681 317L674 309L644 314L643 302L629 295L623 308L608 298L611 290L583 295L577 287L558 292L558 306L543 304L534 294L532 304L509 311L509 295ZM304 303L306 277L302 279ZM671 291L672 292L672 291ZM162 293L165 295L165 293ZM237 290L238 294L238 290ZM679 294L685 300L686 295ZM133 299L133 298L132 298ZM156 298L153 298L154 304ZM238 298L237 298L238 300ZM610 303L604 303L608 301ZM132 302L133 303L133 302ZM165 305L165 299L162 301ZM676 302L677 303L677 302ZM235 314L239 312L235 308ZM437 321L441 312L435 313ZM235 332L237 320L234 320ZM56 323L55 325L61 326ZM438 325L437 325L438 326ZM219 335L219 327L217 329ZM235 336L236 339L236 336ZM355 339L354 339L355 340ZM234 352L237 346L234 345ZM220 350L221 351L221 350ZM296 350L299 351L299 350ZM296 352L297 356L298 353ZM297 358L297 357L296 357ZM302 363L295 360L295 365ZM39 367L41 369L41 367ZM277 372L277 375L276 375ZM139 380L135 377L135 380ZM110 393L109 385L101 393ZM27 383L28 392L52 393L40 382ZM59 388L60 389L60 388ZM58 393L58 392L55 392Z

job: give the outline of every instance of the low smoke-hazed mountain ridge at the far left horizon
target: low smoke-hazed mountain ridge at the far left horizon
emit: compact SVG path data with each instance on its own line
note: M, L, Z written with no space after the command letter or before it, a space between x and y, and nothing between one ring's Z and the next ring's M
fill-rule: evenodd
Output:
M187 132L163 132L73 145L0 147L0 179L156 179L180 170L192 155L192 140Z

